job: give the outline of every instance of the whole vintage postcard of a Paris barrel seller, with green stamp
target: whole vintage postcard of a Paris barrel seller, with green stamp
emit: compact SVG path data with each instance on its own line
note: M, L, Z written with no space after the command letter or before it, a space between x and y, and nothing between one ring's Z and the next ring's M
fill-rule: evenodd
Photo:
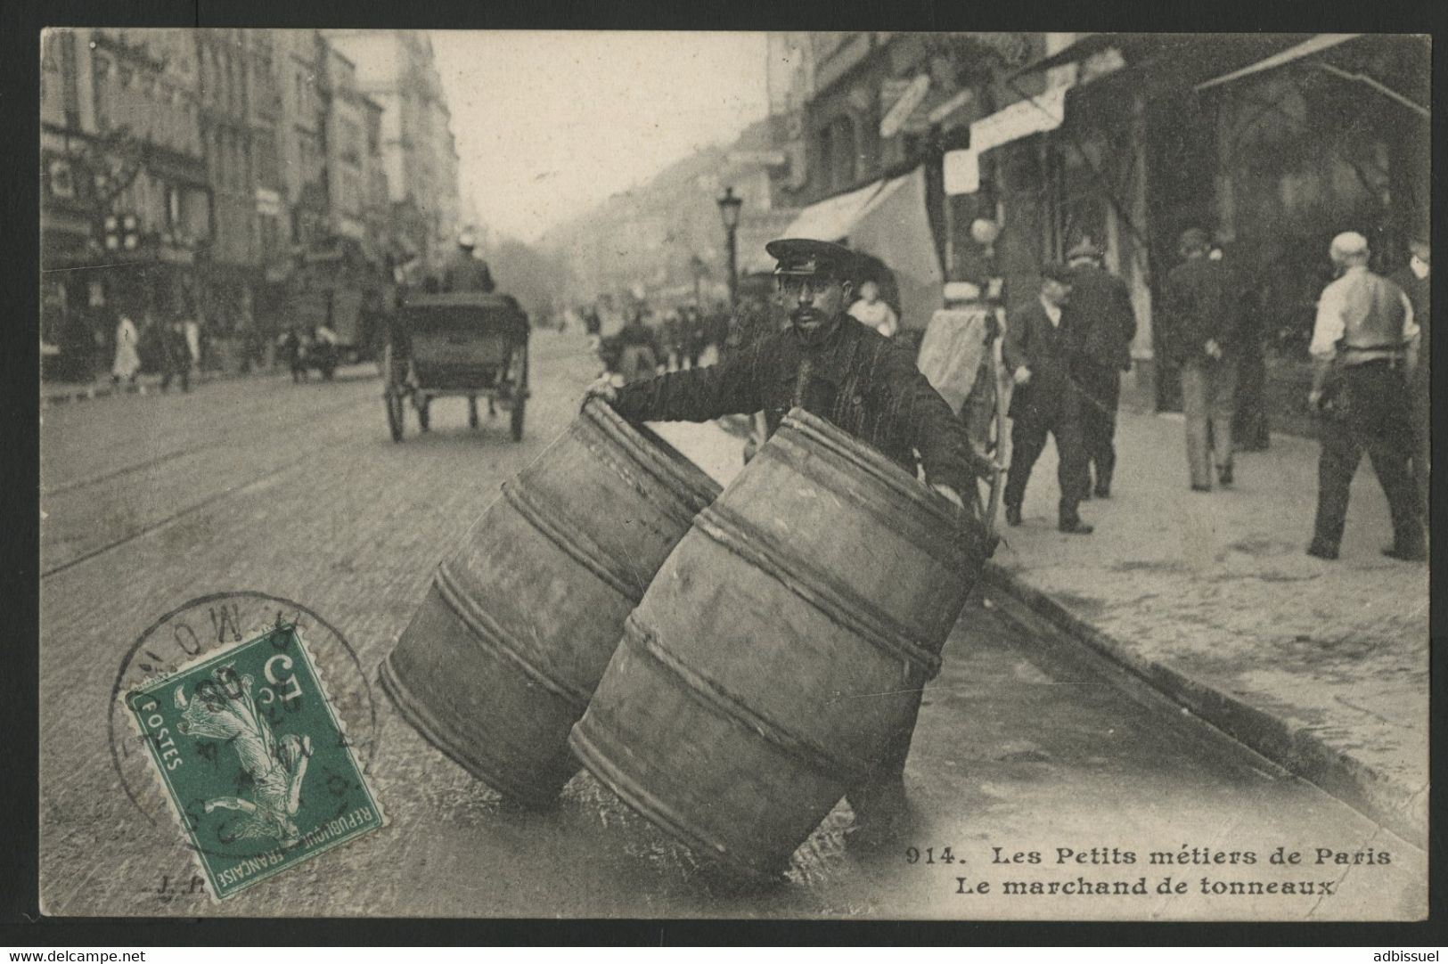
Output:
M1426 916L1429 38L35 39L43 913Z

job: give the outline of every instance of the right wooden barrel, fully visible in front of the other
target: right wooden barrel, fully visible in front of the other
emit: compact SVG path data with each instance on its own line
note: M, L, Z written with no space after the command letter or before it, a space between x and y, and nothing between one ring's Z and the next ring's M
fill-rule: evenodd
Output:
M911 724L983 546L795 410L663 563L569 743L701 855L773 877Z

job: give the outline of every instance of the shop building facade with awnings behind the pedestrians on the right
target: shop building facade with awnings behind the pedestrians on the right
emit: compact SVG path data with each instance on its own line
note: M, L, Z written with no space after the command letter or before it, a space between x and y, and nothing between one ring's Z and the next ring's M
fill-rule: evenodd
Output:
M804 207L794 229L904 274L906 327L924 327L943 284L977 276L977 217L1002 227L1008 305L1090 237L1128 281L1131 381L1161 408L1176 375L1158 371L1153 305L1184 227L1213 232L1289 382L1331 236L1363 232L1392 268L1426 232L1420 38L776 33L770 71L776 201ZM921 203L888 226L872 213L917 184Z

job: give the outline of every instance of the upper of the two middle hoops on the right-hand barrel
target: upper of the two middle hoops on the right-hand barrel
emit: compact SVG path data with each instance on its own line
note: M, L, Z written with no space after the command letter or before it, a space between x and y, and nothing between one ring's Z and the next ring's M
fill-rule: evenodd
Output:
M714 504L699 512L694 525L825 614L840 628L869 641L875 648L889 656L909 661L925 675L927 680L935 679L935 675L940 673L940 656L931 651L925 643L914 638L893 617L853 592L831 586L824 573L804 559L791 559L791 569L785 569L779 562L785 556L783 547L731 510ZM743 533L749 533L749 536Z

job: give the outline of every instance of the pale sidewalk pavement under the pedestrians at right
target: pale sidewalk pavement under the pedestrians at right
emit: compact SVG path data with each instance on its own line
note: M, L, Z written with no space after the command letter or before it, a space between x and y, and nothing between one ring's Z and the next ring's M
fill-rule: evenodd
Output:
M727 483L741 441L654 426ZM1124 411L1114 498L1056 530L1056 457L1037 462L1024 525L986 580L1405 840L1428 840L1428 566L1386 559L1387 502L1364 463L1341 559L1305 554L1318 444L1274 436L1237 485L1187 486L1180 415Z

